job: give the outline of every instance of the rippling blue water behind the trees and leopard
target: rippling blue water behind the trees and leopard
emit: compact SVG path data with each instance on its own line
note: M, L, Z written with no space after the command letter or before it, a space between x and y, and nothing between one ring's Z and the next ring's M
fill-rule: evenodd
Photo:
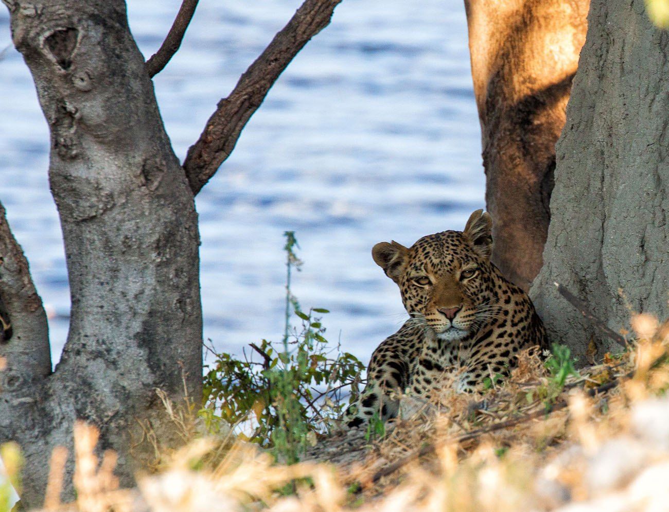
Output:
M179 3L130 0L130 26L147 58ZM300 3L201 0L181 50L155 78L179 157ZM8 23L0 9L0 49L10 45ZM47 184L49 139L11 47L0 60L0 91L0 200L50 313L57 360L70 296ZM205 338L237 353L280 339L282 234L295 230L305 264L294 293L303 307L330 309L330 339L366 361L406 318L371 247L462 229L483 204L462 1L344 0L197 196Z

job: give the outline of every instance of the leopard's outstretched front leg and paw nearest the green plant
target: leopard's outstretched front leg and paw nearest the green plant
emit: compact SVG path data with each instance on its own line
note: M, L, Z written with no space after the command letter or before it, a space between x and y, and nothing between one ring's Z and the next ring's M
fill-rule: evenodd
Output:
M395 418L399 401L391 398L391 394L403 392L408 381L409 364L406 354L390 337L379 345L369 361L367 386L357 402L347 410L347 426L367 424L375 414L384 422Z

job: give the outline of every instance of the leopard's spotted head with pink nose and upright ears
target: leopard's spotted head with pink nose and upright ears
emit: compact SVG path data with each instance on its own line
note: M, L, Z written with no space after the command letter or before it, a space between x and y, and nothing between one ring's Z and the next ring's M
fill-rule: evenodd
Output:
M374 261L397 283L407 313L444 341L478 330L494 312L492 220L474 211L464 231L423 236L407 248L381 242Z

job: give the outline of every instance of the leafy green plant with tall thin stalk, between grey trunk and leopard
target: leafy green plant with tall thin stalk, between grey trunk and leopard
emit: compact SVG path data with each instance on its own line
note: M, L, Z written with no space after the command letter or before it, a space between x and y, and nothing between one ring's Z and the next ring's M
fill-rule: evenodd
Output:
M207 428L232 425L237 435L274 448L282 462L298 460L300 451L328 432L355 401L365 366L354 355L332 347L324 337L326 309L302 311L291 292L292 271L302 262L294 232L286 232L286 318L279 347L262 340L239 359L215 353L204 377L199 412ZM297 317L300 325L294 327ZM260 360L258 360L260 356ZM349 400L347 400L347 395Z

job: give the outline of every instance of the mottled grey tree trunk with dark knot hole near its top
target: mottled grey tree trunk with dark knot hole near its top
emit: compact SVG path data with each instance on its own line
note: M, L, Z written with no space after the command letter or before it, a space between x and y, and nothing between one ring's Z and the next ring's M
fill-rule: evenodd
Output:
M72 293L70 333L52 375L34 288L17 299L30 305L8 305L15 336L0 352L9 367L0 442L21 444L29 475L22 499L34 507L50 450L72 446L75 419L100 427L100 448L118 452L127 485L150 456L132 446L139 422L163 414L154 389L183 400L183 370L187 392L199 399L199 234L193 192L165 134L124 1L3 1L50 126L50 183ZM15 269L17 278L22 272ZM15 374L23 378L10 389L7 375Z

